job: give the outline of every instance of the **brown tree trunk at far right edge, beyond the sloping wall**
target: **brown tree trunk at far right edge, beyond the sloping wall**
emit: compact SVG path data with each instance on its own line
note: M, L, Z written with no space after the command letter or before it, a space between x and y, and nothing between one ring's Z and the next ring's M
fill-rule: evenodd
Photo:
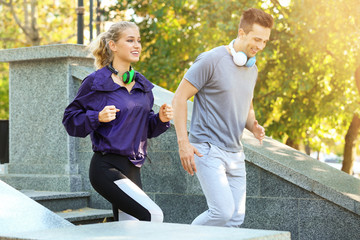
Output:
M354 115L350 127L345 136L344 147L344 160L341 171L344 171L350 175L353 173L353 166L355 161L355 143L360 129L360 118L358 115Z

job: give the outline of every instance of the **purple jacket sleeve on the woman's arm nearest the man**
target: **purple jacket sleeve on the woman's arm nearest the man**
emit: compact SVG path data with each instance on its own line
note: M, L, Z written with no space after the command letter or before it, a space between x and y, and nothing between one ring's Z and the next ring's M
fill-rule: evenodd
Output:
M149 95L150 109L154 105L154 96L152 92ZM159 113L155 114L153 110L149 112L148 138L157 137L164 133L170 127L170 122L162 122Z

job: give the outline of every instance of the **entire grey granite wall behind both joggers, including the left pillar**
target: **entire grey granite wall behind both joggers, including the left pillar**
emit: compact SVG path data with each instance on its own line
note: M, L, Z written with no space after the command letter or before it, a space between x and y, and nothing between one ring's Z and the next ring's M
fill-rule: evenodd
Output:
M89 191L90 206L110 208L91 187L89 137L73 138L61 124L65 107L93 59L81 45L0 51L10 62L10 161L0 179L17 189ZM150 79L151 80L151 79ZM157 111L173 93L154 88ZM190 123L192 103L188 103ZM290 231L292 239L357 239L360 180L271 138L262 146L244 134L247 211L243 227ZM142 169L144 190L163 209L166 222L191 223L206 201L196 176L178 156L174 127L149 141Z

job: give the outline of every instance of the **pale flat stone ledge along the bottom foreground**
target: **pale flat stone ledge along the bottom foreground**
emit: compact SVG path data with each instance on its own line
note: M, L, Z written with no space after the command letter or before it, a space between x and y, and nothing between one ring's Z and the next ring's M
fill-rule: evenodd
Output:
M1 239L291 240L291 235L285 231L122 221L15 233Z

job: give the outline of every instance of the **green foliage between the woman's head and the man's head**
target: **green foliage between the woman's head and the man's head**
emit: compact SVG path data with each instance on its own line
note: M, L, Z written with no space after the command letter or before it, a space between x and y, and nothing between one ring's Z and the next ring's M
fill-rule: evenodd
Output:
M129 0L108 11L110 19L134 11L143 54L135 66L149 80L175 91L184 73L203 51L228 44L237 35L241 9L256 1Z

